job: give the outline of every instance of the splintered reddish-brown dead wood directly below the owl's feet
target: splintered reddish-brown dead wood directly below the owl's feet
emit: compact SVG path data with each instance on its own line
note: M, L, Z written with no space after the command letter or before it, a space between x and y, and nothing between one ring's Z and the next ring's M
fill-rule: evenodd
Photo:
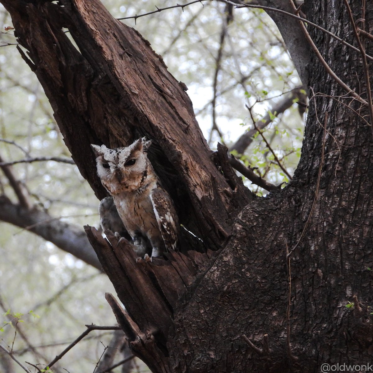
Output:
M156 330L167 341L178 301L197 273L209 266L212 251L172 251L164 254L168 260L139 261L133 245L125 239L118 241L110 231L105 231L104 239L94 227L84 228L129 317L140 330ZM125 330L127 335L135 336L131 323L126 325L126 329L132 329Z

